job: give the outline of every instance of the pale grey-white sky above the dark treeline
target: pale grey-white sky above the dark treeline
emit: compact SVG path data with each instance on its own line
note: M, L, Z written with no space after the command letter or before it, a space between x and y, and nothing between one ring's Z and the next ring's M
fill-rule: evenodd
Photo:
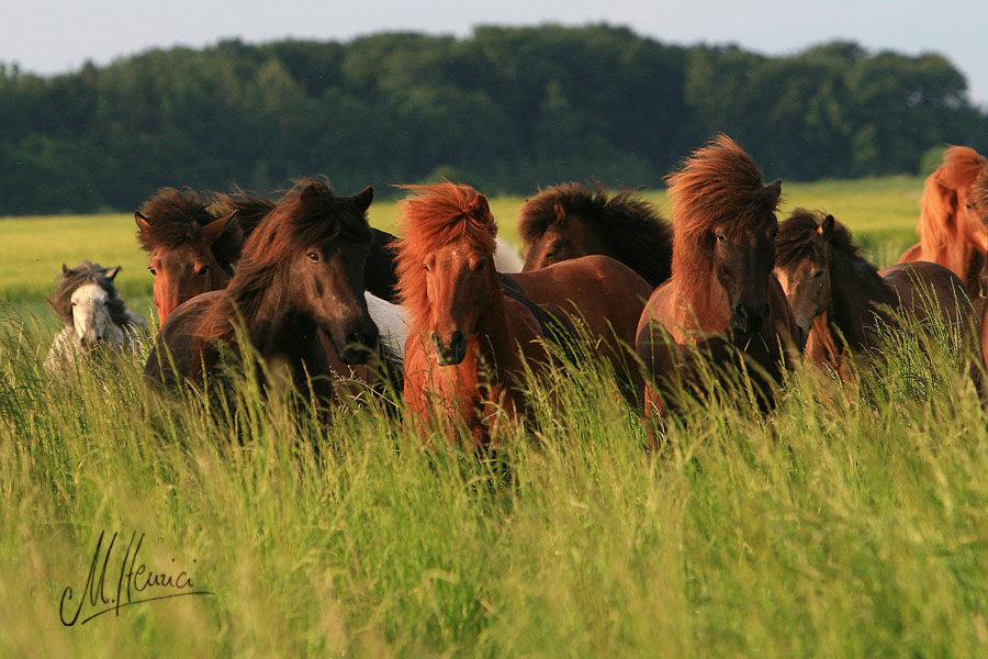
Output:
M48 75L151 47L222 38L346 41L383 31L469 36L474 25L607 22L664 43L766 55L833 40L869 52L946 55L988 108L988 0L0 0L0 62Z

